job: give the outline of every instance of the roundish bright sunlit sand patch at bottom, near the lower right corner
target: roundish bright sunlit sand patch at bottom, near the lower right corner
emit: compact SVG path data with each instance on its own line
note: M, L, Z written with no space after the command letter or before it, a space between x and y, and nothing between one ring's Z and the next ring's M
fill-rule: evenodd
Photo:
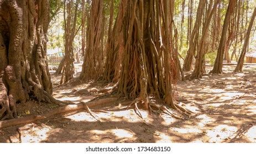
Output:
M212 130L207 130L207 136L210 138L209 142L222 142L225 139L232 138L236 131L236 127L231 127L229 125L218 125Z

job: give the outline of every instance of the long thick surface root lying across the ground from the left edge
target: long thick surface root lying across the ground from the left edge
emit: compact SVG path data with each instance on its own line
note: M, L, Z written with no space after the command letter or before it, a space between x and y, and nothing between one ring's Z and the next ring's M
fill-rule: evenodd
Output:
M23 118L18 118L18 119L11 119L11 120L4 120L0 122L0 129L6 128L6 127L12 127L14 125L19 125L19 124L27 124L27 123L32 123L35 122L36 120L43 120L46 118L49 118L51 116L55 116L56 114L60 113L65 113L65 112L71 112L71 111L77 111L79 109L86 109L87 107L94 107L106 103L111 103L117 101L117 98L104 98L101 100L95 100L91 102L81 102L77 105L67 105L67 106L62 106L56 109L53 109L52 111L41 114L39 116L29 116L29 117L23 117Z

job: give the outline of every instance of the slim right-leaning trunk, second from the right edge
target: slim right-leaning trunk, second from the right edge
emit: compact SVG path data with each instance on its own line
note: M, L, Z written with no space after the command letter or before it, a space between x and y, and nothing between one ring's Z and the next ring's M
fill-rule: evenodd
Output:
M227 36L228 25L231 19L231 14L233 13L234 6L236 4L235 0L231 0L228 3L227 13L224 19L221 41L218 47L217 57L215 59L215 64L213 70L210 73L220 74L222 73L222 65L223 65L223 56L224 56L224 48Z

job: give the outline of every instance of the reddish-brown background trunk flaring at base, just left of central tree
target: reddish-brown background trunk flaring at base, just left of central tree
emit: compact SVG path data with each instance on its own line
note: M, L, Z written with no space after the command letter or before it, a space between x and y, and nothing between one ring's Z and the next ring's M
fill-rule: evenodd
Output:
M91 5L88 41L80 75L80 79L86 82L97 80L103 71L103 1L93 0Z

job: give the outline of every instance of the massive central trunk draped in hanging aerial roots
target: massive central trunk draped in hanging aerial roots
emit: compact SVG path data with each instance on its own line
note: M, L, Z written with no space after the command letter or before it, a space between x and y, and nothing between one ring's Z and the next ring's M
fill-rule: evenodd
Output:
M166 105L187 113L173 98L175 64L170 40L170 1L128 1L123 20L125 43L118 92L151 110L149 94L163 98ZM163 11L163 12L161 12ZM163 21L163 22L161 22ZM162 31L163 30L163 31Z

